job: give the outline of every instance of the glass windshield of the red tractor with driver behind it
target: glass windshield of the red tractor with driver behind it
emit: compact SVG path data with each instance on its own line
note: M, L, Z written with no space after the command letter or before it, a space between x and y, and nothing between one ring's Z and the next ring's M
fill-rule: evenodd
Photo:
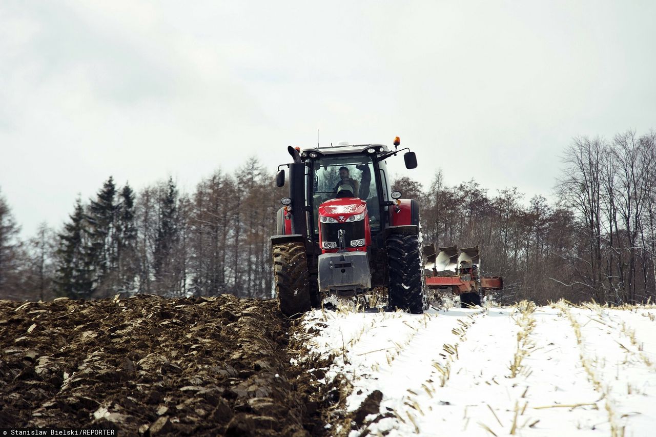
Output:
M338 190L343 197L344 193L341 192L349 188L354 197L367 201L369 224L372 230L380 228L379 200L371 157L366 155L321 157L313 161L312 168L314 169L312 205L316 230L319 205L328 199L337 198Z

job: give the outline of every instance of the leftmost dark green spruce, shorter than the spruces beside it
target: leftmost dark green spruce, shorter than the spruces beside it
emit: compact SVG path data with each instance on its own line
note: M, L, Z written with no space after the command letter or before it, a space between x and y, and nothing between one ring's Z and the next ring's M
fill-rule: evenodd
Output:
M77 199L70 219L64 224L64 232L59 234L55 284L59 295L85 299L91 297L94 268L86 247L88 230L80 199Z

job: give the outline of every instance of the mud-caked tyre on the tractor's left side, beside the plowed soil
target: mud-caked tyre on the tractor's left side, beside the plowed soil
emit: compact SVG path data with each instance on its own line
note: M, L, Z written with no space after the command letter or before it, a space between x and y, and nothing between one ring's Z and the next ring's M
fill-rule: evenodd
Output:
M302 243L276 244L273 256L278 308L287 317L300 316L312 308L305 246Z

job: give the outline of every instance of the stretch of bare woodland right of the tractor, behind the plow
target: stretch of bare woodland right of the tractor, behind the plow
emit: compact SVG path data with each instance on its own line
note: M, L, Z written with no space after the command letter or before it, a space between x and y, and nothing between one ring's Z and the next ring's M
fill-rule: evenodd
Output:
M394 189L420 201L424 242L480 245L483 274L504 277L502 302L654 301L656 133L574 138L562 156L556 201L527 204L516 189L488 194L474 179Z

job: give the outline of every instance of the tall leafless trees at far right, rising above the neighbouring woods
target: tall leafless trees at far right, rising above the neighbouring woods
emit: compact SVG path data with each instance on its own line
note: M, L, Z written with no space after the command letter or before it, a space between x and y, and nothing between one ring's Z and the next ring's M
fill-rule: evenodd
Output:
M558 195L577 218L567 286L602 302L653 300L656 133L575 138L564 163Z

